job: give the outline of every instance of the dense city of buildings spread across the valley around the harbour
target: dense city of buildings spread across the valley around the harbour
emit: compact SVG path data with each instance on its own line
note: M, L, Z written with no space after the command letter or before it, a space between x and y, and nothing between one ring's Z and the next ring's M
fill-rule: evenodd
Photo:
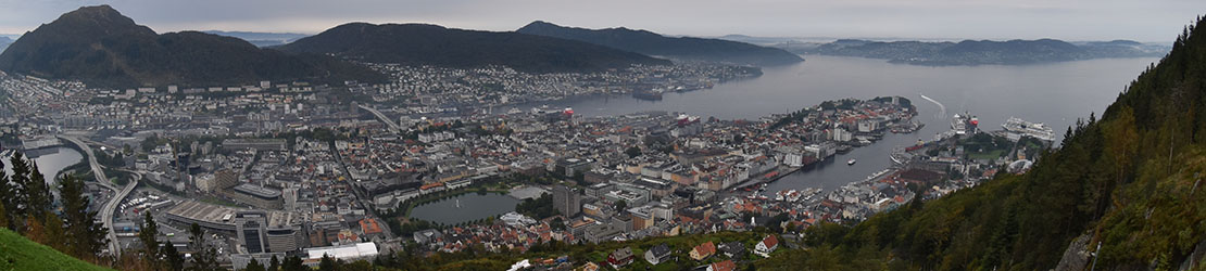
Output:
M1028 135L1011 131L984 134L964 116L952 125L958 132L894 152L891 167L865 179L829 190L768 192L767 183L796 171L854 164L835 157L888 132L920 129L917 108L886 96L801 105L798 112L749 120L656 111L582 117L572 108L503 108L576 95L686 92L759 71L685 64L531 75L369 65L393 82L92 89L0 72L7 105L0 129L5 148L82 141L88 153L109 158L82 163L100 164L93 169L117 179L89 185L93 207L112 208L103 212L112 217L100 219L112 223L115 249L137 247L137 222L151 213L163 225L160 240L176 245L188 243L182 229L199 224L235 269L274 255L302 255L311 265L323 255L371 259L408 243L422 253L479 245L522 252L554 241L780 229L754 247L709 242L690 252L696 260L724 254L732 260L709 270L732 270L733 260L744 259L737 254L767 257L807 226L861 220L976 185L997 171L1024 171L1050 143L1029 143ZM72 173L89 171L77 169ZM546 200L551 211L516 207L458 223L408 216L421 205L459 206L462 196L488 194ZM637 257L656 265L669 253L608 252L607 263L589 265L622 266Z

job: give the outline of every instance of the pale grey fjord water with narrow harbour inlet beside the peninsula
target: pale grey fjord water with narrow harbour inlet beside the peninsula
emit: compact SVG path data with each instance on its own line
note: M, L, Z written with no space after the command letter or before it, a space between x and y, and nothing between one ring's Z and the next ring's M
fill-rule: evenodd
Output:
M668 111L704 118L757 119L844 98L898 95L912 100L919 111L915 119L924 122L925 129L909 135L889 134L872 146L838 154L815 170L796 172L767 187L768 193L812 187L829 190L886 169L890 164L888 154L894 147L913 145L918 139L933 139L935 134L950 129L949 117L954 113L967 111L979 117L980 129L985 131L1000 130L1007 118L1018 117L1046 123L1062 137L1064 130L1077 118L1105 111L1131 79L1158 60L1119 58L1020 66L936 67L865 58L804 57L807 61L801 64L765 67L759 78L724 83L707 90L667 93L661 101L597 95L548 105L569 106L582 116ZM938 107L919 94L942 102L947 107L947 117L937 118ZM521 105L519 108L533 106L539 104ZM845 160L851 158L857 159L857 164L847 166Z

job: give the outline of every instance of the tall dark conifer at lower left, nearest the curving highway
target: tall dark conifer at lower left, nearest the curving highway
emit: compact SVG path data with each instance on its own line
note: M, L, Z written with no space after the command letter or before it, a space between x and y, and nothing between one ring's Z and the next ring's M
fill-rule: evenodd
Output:
M109 240L104 225L93 219L96 212L88 211L90 200L84 195L83 179L71 175L59 179L59 199L66 234L71 236L65 241L68 254L81 259L95 258Z

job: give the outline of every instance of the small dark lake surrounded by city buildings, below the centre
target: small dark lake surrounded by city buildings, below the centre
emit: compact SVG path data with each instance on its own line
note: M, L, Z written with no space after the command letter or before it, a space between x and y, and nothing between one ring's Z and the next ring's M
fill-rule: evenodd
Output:
M519 202L519 200L503 194L468 193L415 207L410 211L410 217L451 225L515 211L515 205Z

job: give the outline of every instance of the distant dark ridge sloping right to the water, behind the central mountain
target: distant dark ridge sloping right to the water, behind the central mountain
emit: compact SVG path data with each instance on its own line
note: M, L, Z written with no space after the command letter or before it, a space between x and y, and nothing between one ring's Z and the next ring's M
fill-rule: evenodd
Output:
M803 61L800 55L771 47L701 37L668 37L627 28L584 29L532 22L516 30L522 34L584 41L642 54L680 60L720 61L742 65L785 65Z

